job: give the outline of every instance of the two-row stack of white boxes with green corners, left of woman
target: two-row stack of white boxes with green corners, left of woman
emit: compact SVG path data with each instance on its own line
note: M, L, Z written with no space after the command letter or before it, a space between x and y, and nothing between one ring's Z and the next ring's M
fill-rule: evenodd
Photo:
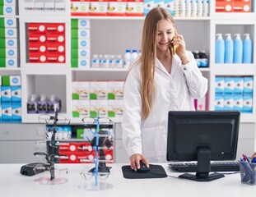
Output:
M123 116L123 81L73 81L72 117Z

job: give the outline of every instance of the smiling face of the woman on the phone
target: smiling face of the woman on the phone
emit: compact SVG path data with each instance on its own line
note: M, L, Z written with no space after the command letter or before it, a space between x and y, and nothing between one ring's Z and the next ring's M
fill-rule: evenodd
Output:
M156 48L159 52L167 52L170 42L175 36L175 27L170 21L159 21L157 24Z

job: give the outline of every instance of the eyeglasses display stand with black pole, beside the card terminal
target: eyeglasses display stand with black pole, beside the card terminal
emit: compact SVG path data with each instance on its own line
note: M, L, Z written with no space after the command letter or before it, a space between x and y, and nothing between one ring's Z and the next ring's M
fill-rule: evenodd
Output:
M63 177L56 177L55 176L55 158L57 158L58 156L56 156L55 154L55 144L56 144L56 140L55 140L55 135L56 135L56 126L57 126L57 122L58 122L58 108L56 108L55 111L55 116L49 116L49 120L44 120L46 122L46 124L49 124L49 121L54 121L54 125L53 127L50 129L50 131L47 131L48 134L51 134L51 140L50 140L50 144L52 144L50 146L49 149L49 154L47 153L34 153L35 156L45 156L47 162L50 164L49 166L49 172L50 172L50 177L40 177L38 179L35 179L35 182L38 184L43 184L43 185L58 185L58 184L63 184L67 182L66 178Z

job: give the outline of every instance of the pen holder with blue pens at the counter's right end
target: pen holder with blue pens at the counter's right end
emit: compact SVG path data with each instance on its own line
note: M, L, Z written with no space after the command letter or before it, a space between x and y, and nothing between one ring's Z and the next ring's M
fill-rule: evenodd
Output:
M256 185L256 163L248 163L239 160L241 182Z

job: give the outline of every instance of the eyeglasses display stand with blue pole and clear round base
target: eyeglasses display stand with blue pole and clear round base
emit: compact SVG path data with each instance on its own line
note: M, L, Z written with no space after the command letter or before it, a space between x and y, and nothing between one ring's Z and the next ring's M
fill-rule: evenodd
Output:
M85 122L86 119L83 119L84 125L88 126L88 123ZM110 142L108 142L107 138L109 134L105 131L100 131L100 118L96 117L94 118L94 124L96 126L95 128L95 134L93 140L91 140L91 146L93 147L93 150L95 151L95 158L93 160L93 163L95 163L95 167L92 167L91 169L87 170L84 169L81 171L81 177L86 181L85 183L81 184L79 188L83 190L108 190L112 188L112 184L99 181L100 179L107 179L110 174L110 168L106 166L106 160L105 160L105 153L104 153L104 145L106 147L109 147ZM109 120L109 122L104 122L104 125L106 124L112 124L112 121ZM99 156L98 156L99 155ZM95 177L95 181L91 182L89 181L91 179L91 176Z

